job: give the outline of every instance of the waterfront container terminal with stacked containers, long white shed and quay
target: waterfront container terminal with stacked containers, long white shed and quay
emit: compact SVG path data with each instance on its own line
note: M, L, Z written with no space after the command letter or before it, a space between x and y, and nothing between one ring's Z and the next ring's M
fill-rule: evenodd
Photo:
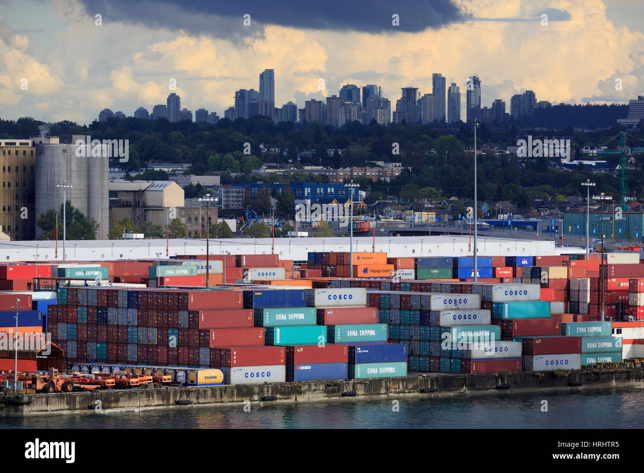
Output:
M0 413L644 382L641 248L344 240L0 245Z

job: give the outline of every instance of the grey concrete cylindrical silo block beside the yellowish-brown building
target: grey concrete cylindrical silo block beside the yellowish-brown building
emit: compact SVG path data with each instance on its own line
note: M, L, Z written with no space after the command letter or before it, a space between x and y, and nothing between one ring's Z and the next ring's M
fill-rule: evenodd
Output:
M108 169L109 154L106 146L100 156L86 153L90 144L88 136L70 134L61 136L32 136L35 145L35 218L47 210L58 210L62 204L63 188L56 187L65 181L72 187L66 189L66 198L88 219L100 223L100 239L108 236ZM90 137L91 140L91 137ZM77 153L79 151L79 153ZM94 154L94 153L91 153ZM87 156L87 157L86 157ZM35 223L34 223L35 225ZM43 230L35 228L35 237Z

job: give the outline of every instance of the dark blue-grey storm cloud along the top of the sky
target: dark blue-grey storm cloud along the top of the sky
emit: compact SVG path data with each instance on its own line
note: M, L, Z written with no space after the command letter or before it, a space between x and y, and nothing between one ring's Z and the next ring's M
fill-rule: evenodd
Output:
M465 19L451 0L81 1L88 14L102 14L104 24L140 23L214 37L249 35L253 30L258 33L265 24L357 32L420 32ZM245 14L251 15L250 27L242 24ZM399 26L392 26L393 14L399 15Z

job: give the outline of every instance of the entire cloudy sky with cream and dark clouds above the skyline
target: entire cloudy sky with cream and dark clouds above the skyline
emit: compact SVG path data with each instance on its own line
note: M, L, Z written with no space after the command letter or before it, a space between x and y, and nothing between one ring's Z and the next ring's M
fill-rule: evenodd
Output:
M460 86L463 102L466 80L478 75L482 104L502 98L508 111L511 95L526 89L537 100L570 103L644 95L639 0L0 0L0 7L4 119L89 124L104 107L131 116L165 104L171 79L182 107L222 116L236 89L258 89L265 68L275 70L276 106L303 107L352 83L378 84L393 107L401 87L431 93L435 72Z

